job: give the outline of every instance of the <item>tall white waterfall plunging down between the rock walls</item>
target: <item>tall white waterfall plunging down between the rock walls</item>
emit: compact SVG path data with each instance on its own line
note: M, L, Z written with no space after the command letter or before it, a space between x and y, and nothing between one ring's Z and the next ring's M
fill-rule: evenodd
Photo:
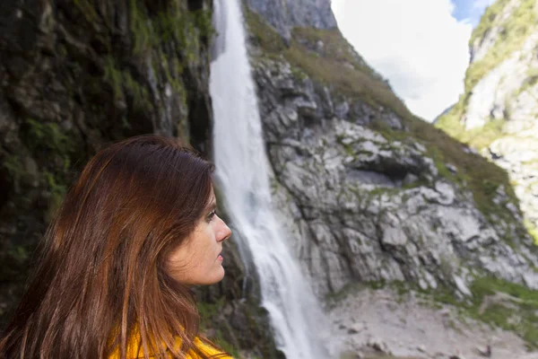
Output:
M213 153L234 238L256 267L279 349L289 359L327 358L321 334L328 328L325 317L273 215L271 170L239 0L215 0L213 6L218 33L210 78Z

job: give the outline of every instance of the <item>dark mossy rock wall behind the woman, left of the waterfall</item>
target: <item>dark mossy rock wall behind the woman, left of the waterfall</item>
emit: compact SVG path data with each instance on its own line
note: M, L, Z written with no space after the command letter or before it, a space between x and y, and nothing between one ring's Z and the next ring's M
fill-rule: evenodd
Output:
M66 188L100 146L158 133L208 149L208 3L190 3L2 2L0 315ZM190 11L195 4L202 10Z

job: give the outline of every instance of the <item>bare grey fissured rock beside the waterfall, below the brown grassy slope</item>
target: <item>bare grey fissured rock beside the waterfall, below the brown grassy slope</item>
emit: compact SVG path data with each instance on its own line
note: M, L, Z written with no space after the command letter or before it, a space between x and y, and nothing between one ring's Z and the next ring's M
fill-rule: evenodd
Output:
M376 112L401 127L394 114L334 106L337 96L295 77L285 61L261 60L255 77L275 207L318 294L397 280L469 295L478 273L538 288L529 243L504 241L516 226L486 221L412 138L391 142L362 125Z

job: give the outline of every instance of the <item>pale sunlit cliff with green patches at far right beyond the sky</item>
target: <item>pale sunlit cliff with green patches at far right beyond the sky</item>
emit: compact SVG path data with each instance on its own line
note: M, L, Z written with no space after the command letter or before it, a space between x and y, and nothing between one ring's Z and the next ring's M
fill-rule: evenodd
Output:
M438 127L508 171L538 241L538 8L534 0L492 4L470 41L465 93Z

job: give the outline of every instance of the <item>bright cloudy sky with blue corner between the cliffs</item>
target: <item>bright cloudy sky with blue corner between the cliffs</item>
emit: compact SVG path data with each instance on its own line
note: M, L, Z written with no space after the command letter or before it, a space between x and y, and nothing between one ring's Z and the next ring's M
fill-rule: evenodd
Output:
M332 0L343 36L412 112L432 121L464 92L468 42L493 0Z

